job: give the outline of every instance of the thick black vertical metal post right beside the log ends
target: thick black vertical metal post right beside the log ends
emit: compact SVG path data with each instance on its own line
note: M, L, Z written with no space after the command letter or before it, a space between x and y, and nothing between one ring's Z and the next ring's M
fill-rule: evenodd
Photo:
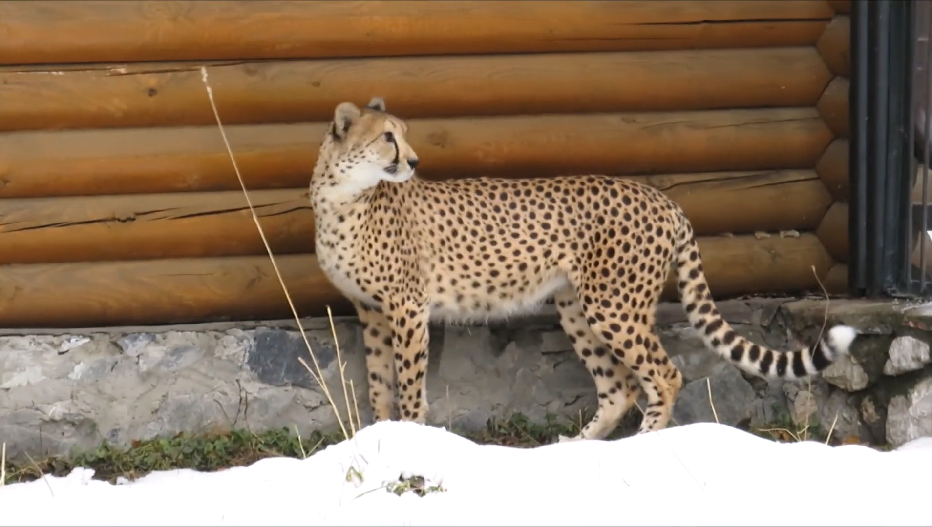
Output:
M852 3L851 290L911 293L914 4Z

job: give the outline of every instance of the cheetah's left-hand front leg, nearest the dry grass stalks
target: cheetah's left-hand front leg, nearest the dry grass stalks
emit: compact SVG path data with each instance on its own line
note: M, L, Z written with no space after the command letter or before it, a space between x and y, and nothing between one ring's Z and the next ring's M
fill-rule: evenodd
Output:
M391 368L393 349L389 319L367 305L353 303L356 313L363 322L363 345L365 345L365 369L369 373L369 404L372 405L373 421L391 419L394 406L395 372Z

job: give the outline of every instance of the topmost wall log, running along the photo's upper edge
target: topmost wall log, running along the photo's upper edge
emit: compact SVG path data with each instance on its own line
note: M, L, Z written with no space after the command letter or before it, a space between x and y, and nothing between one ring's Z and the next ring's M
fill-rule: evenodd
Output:
M821 0L0 2L7 64L807 46Z

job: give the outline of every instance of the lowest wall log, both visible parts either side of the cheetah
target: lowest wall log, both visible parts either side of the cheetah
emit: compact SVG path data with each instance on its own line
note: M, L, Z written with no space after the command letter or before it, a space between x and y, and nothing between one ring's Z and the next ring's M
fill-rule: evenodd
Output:
M815 235L701 238L706 275L721 298L817 287L831 257ZM349 306L313 255L276 259L300 317ZM265 256L144 260L0 268L0 327L80 328L291 318ZM672 283L671 283L672 285Z

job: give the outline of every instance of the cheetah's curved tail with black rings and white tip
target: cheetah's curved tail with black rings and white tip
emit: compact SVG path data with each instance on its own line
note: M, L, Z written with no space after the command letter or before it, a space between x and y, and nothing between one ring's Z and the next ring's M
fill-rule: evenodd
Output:
M712 302L699 246L692 228L685 227L678 240L676 257L679 298L706 347L742 370L765 379L799 379L821 372L835 359L848 353L857 330L835 326L816 345L794 351L777 351L756 345L739 336L721 318Z

